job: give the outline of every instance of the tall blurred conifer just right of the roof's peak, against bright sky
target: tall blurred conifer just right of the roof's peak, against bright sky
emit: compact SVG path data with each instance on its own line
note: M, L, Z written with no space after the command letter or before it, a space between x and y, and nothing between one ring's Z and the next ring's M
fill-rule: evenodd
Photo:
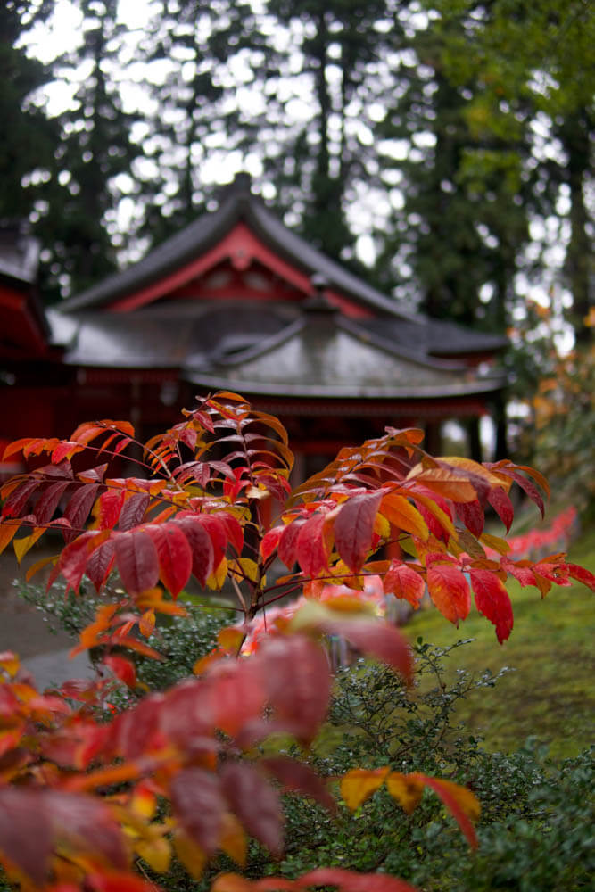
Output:
M394 85L391 30L399 5L270 0L268 7L290 46L266 84L283 131L281 150L265 153L277 202L314 244L351 264L358 233L350 206L379 183L374 129L384 113L378 97ZM296 110L301 120L290 123Z

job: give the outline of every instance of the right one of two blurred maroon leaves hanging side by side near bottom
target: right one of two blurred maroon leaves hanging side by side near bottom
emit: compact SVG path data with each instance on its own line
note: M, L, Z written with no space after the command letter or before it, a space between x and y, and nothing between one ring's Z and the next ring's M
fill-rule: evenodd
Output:
M252 764L227 762L221 789L234 814L272 855L283 851L283 809L277 791Z

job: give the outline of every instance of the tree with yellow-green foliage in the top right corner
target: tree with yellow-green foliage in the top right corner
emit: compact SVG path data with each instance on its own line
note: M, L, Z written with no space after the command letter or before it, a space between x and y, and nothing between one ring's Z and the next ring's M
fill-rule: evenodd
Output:
M532 137L522 156L522 174L534 188L521 197L533 217L554 215L566 222L561 279L572 301L567 318L577 340L587 340L593 222L585 196L595 133L595 17L590 4L433 0L428 5L439 11L443 28L459 34L459 43L452 42L445 55L445 71L452 82L460 83L464 59L467 76L480 87L470 113L482 120L485 133L493 137L503 127L515 128L519 115L528 121ZM463 46L460 36L466 34L471 39Z

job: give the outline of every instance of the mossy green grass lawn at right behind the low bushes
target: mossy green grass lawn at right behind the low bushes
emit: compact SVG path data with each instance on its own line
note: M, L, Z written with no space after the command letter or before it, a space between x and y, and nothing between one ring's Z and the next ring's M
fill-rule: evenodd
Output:
M595 524L583 530L568 559L595 572ZM414 615L405 632L411 640L422 636L441 646L475 639L448 657L453 673L515 670L494 688L472 692L457 709L459 721L483 738L485 748L512 752L535 736L549 745L550 756L575 756L595 742L595 596L578 583L553 585L543 600L515 581L507 587L515 628L501 646L475 606L459 629L432 606Z

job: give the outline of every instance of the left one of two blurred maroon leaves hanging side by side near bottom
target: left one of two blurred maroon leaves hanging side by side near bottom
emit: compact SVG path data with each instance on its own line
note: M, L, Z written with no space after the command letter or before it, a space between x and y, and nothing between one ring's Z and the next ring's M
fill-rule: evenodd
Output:
M178 822L207 855L219 847L226 801L219 778L202 768L186 768L169 785L169 797Z

